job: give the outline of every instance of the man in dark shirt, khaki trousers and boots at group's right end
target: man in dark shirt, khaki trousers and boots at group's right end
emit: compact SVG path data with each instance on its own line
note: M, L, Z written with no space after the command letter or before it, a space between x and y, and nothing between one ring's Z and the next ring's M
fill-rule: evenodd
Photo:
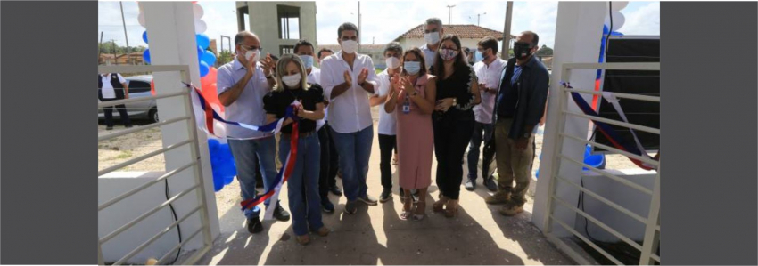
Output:
M508 60L500 78L495 103L498 192L485 201L505 204L500 209L504 215L523 212L534 161L534 132L548 99L548 69L533 55L539 40L534 32L522 32L514 44L514 58Z

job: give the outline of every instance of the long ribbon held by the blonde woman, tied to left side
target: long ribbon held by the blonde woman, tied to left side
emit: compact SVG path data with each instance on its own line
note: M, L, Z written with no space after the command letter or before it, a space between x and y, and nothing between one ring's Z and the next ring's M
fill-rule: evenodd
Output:
M206 128L201 128L214 136L216 136L215 133L213 133L213 120L217 120L219 122L228 124L228 125L237 125L241 126L243 128L247 128L250 130L256 130L260 132L266 132L266 133L278 133L282 129L282 125L284 125L284 120L286 118L292 118L292 137L290 140L290 153L287 155L287 159L284 162L284 165L282 165L282 168L279 169L279 173L276 174L276 180L274 183L275 186L272 186L267 189L266 192L264 192L261 195L258 195L253 198L249 198L246 200L243 200L243 202L240 203L242 206L242 210L250 209L254 206L259 205L261 202L264 202L266 199L270 197L278 198L279 196L279 190L284 185L284 182L286 182L290 176L292 176L292 172L294 171L295 161L297 160L297 147L298 147L298 120L300 117L294 114L294 109L296 105L298 104L296 101L292 102L292 104L287 107L284 117L279 118L278 120L269 123L268 125L248 125L244 123L234 122L234 121L227 121L218 113L216 110L212 109L210 106L210 103L205 100L205 98L202 96L202 92L200 89L195 87L194 85L186 84L187 87L191 87L194 93L192 94L193 99L193 108L195 110L202 110L204 113L204 122ZM203 125L201 124L201 125ZM218 137L218 136L217 136ZM274 209L276 209L276 205L278 204L277 201L271 202L269 206L266 208L266 214L264 216L264 220L271 220L273 219Z

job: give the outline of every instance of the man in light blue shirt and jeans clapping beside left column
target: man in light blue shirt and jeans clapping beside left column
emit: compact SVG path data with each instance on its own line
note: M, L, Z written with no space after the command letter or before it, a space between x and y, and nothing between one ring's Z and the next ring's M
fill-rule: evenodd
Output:
M225 107L224 116L229 121L249 125L264 125L266 111L263 110L263 96L276 83L273 77L274 60L267 54L260 60L260 39L249 31L235 36L235 60L218 68L218 101ZM255 157L260 162L263 174L263 188L268 190L275 186L276 179L276 140L271 133L261 133L236 125L227 125L229 148L235 157L237 178L240 181L243 200L256 196ZM266 200L268 206L271 199ZM244 211L248 219L247 230L258 233L263 230L260 223L260 208L254 206ZM276 204L274 217L279 221L288 221L290 214Z

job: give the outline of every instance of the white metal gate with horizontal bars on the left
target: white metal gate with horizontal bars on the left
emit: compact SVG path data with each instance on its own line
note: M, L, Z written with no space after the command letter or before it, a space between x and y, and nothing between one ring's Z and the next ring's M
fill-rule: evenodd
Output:
M186 65L165 65L165 66L100 66L97 69L98 73L140 73L140 72L180 72L182 81L189 84L190 78L189 78L189 67ZM180 222L185 221L187 218L192 216L193 214L200 212L201 217L201 227L198 230L195 230L193 233L189 234L189 237L184 238L184 241L177 244L177 246L174 246L172 249L170 249L163 257L161 257L156 264L166 264L167 259L171 254L176 253L182 246L185 246L186 243L189 243L191 239L194 237L200 235L202 232L203 237L203 246L200 248L197 252L195 252L191 257L187 258L184 262L180 262L180 264L193 264L194 262L197 262L202 255L206 254L210 250L211 243L211 236L210 236L210 223L209 223L209 216L208 216L208 210L207 206L205 205L205 190L204 185L202 181L202 169L201 169L201 163L200 163L200 150L198 146L197 141L197 125L195 124L195 118L194 118L194 112L192 109L192 98L190 96L190 90L187 89L183 92L178 93L156 93L153 96L150 97L140 97L140 98L131 98L131 99L125 99L125 100L119 100L119 101L103 101L98 103L98 108L103 107L111 107L119 104L125 104L128 102L135 102L135 101L152 101L156 99L162 99L162 98L169 98L169 97L182 97L183 100L185 100L185 116L184 117L176 117L171 118L167 120L161 120L158 123L153 123L151 125L143 125L143 126L135 126L133 128L128 128L124 130L120 130L118 132L114 133L108 133L103 135L98 135L97 141L107 141L111 140L113 138L127 135L129 133L136 133L139 131L144 131L147 129L151 129L154 127L158 127L161 125L169 125L172 123L186 123L187 130L189 131L190 138L185 141L179 141L175 144L169 145L165 148L158 149L155 151L152 151L148 154L145 154L143 156L135 157L132 159L129 159L127 161L124 161L122 163L119 163L118 165L112 165L111 167L105 168L101 171L97 172L98 176L103 176L103 174L111 173L115 170L118 170L120 168L126 167L128 165L134 165L136 163L139 163L143 161L144 159L147 159L149 157L153 157L156 155L159 155L161 153L165 153L171 149L177 149L178 147L184 146L184 145L190 145L190 154L188 156L191 157L191 162L179 166L176 169L172 169L170 171L167 171L161 177L156 178L155 180L149 181L147 183L144 183L143 185L131 189L118 197L113 197L111 200L108 200L107 202L97 206L97 211L100 212L103 209L112 206L116 203L119 203L119 201L126 199L128 197L133 197L137 192L142 191L144 189L147 189L148 187L168 179L170 176L182 172L186 169L190 169L194 173L194 184L189 188L185 189L173 197L170 197L165 202L161 203L159 206L155 206L150 211L145 212L144 214L136 217L134 220L129 221L119 227L118 230L112 231L110 234L106 235L103 238L98 239L98 264L103 265L105 262L103 262L103 250L102 246L103 243L108 242L112 238L115 238L120 233L124 232L125 230L128 230L129 228L132 228L137 223L142 222L145 218L151 216L152 214L157 213L158 211L164 209L165 207L169 206L171 203L176 201L180 197L184 197L187 194L192 194L193 191L195 191L195 195L197 197L196 206L194 206L188 214L186 214L183 217L177 217L177 221L170 224L168 227L166 227L164 230L161 230L157 235L153 236L152 238L145 241L142 245L136 246L134 250L129 252L128 254L124 255L122 258L119 259L119 261L114 262L113 265L120 265L124 262L127 262L127 260L131 257L133 257L136 254L139 254L141 251L143 251L146 247L150 246L153 242L161 238L164 234L172 230L174 227L177 227ZM168 170L168 169L167 169Z

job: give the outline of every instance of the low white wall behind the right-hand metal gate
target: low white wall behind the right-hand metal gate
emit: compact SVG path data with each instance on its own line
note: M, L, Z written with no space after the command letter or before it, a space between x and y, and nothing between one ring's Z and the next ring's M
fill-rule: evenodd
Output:
M618 175L625 180L639 184L642 187L653 190L655 171L628 169L621 171L608 170L608 172ZM647 217L647 213L650 210L650 195L594 172L585 171L581 176L581 181L584 182L584 188L597 193L600 197L605 197L615 204L627 208L634 214ZM635 241L642 241L645 238L644 223L631 218L631 216L627 214L617 211L613 207L597 200L595 197L584 195L584 211L612 229L617 230L627 238L631 238ZM594 222L588 222L587 224L587 232L589 232L589 236L592 238L604 242L622 241L607 230L597 226ZM585 232L584 225L584 216L581 216L580 214L576 215L574 229L587 236L588 233Z

